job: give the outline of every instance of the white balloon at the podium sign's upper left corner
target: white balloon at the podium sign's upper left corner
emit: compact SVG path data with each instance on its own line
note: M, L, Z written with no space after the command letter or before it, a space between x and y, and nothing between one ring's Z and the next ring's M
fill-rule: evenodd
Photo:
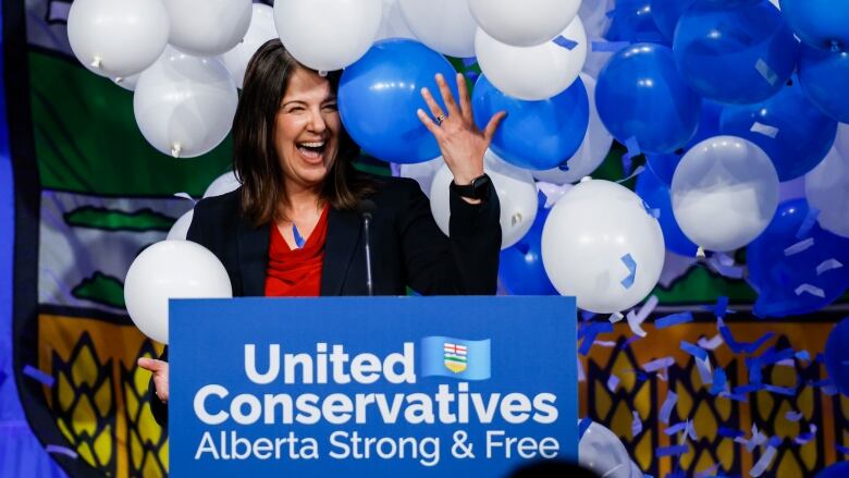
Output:
M124 280L130 318L142 332L168 343L169 298L229 298L233 287L214 254L190 241L162 241L142 252Z

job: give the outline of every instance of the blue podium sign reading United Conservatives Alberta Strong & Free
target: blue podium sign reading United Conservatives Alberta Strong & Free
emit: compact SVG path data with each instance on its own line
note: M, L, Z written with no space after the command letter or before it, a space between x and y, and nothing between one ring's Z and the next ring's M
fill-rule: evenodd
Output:
M172 476L576 459L575 315L569 297L172 301Z

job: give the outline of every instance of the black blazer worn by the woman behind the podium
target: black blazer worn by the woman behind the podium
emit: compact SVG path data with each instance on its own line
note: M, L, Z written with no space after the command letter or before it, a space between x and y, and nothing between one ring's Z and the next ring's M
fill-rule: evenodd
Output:
M418 183L374 177L377 191L369 228L376 295L492 295L501 250L501 208L491 183L484 200L470 205L450 193L451 236L440 231L430 201ZM255 228L239 213L238 191L200 200L187 238L218 256L230 275L233 296L264 295L270 224ZM331 209L321 273L321 295L367 295L362 220L356 212ZM161 359L168 358L168 350ZM168 422L168 408L153 393L153 417Z

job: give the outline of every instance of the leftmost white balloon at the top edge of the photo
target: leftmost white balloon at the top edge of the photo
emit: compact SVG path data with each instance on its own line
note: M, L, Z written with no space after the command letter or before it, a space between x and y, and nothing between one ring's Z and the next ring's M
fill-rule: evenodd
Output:
M100 76L130 76L150 66L168 35L161 0L76 0L67 13L74 56Z

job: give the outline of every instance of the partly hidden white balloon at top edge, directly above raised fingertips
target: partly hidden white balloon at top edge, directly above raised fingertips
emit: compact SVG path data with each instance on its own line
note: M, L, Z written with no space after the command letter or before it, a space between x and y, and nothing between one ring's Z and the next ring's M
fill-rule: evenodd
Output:
M467 0L398 0L407 25L431 50L451 57L475 57L475 30Z

